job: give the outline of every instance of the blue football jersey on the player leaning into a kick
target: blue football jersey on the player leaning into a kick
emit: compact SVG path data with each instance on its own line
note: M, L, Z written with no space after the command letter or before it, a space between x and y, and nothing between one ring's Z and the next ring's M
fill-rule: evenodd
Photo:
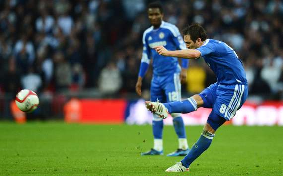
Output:
M197 50L201 52L201 57L215 73L219 84L247 85L242 61L225 42L206 39Z

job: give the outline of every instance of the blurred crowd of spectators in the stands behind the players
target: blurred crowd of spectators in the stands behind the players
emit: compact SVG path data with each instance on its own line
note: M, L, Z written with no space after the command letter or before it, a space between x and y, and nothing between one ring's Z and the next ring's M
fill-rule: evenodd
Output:
M135 92L142 34L153 0L1 0L0 92ZM283 92L283 0L161 0L164 20L181 29L200 23L242 59L250 94ZM143 88L149 89L149 69ZM191 60L184 92L215 82Z

